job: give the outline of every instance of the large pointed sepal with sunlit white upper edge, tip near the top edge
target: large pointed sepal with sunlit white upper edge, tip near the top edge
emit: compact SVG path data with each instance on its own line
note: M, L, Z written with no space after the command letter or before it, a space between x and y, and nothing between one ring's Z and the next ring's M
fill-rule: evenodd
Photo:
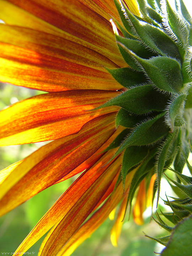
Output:
M125 8L124 4L123 6ZM126 12L132 24L130 27L132 26L135 30L135 36L138 35L146 47L150 48L156 53L159 53L160 55L181 60L181 56L175 42L173 42L172 39L167 36L167 34L153 25L140 21L128 9L126 9Z

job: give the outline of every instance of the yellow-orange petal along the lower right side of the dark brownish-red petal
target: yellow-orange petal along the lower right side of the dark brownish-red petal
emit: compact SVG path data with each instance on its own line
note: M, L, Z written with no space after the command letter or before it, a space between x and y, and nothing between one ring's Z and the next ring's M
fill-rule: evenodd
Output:
M126 190L130 185L130 182L135 174L134 169L131 171L126 178ZM111 197L98 209L92 217L85 222L76 233L71 236L70 240L63 246L57 256L69 256L72 252L100 226L105 219L108 217L110 212L117 206L123 197L123 186L122 182L117 186L116 190L112 193Z

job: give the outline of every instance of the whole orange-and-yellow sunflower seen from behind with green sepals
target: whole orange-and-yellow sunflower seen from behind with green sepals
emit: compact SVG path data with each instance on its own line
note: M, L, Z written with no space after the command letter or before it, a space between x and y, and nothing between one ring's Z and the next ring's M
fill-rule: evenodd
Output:
M0 145L51 140L1 171L0 214L82 172L15 253L50 230L39 255L70 255L121 202L117 245L135 193L142 224L164 168L187 161L191 17L182 0L183 16L158 0L0 5L0 80L47 92L0 112Z

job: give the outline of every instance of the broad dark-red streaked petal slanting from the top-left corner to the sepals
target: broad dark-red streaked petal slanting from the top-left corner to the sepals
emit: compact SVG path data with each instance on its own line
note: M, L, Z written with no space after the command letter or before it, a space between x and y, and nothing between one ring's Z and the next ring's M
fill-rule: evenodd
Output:
M114 41L114 34L109 21L92 11L77 0L57 1L30 1L10 0L13 4L30 14L78 38L79 43L100 52L111 60L123 62L118 47ZM84 43L83 43L84 42ZM88 44L87 44L88 43ZM110 57L111 56L111 57Z

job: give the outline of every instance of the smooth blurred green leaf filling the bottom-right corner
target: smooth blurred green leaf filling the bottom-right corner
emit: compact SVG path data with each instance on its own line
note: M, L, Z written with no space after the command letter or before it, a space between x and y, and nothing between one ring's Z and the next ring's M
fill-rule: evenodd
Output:
M192 252L192 216L179 222L166 245L161 256L190 256Z

